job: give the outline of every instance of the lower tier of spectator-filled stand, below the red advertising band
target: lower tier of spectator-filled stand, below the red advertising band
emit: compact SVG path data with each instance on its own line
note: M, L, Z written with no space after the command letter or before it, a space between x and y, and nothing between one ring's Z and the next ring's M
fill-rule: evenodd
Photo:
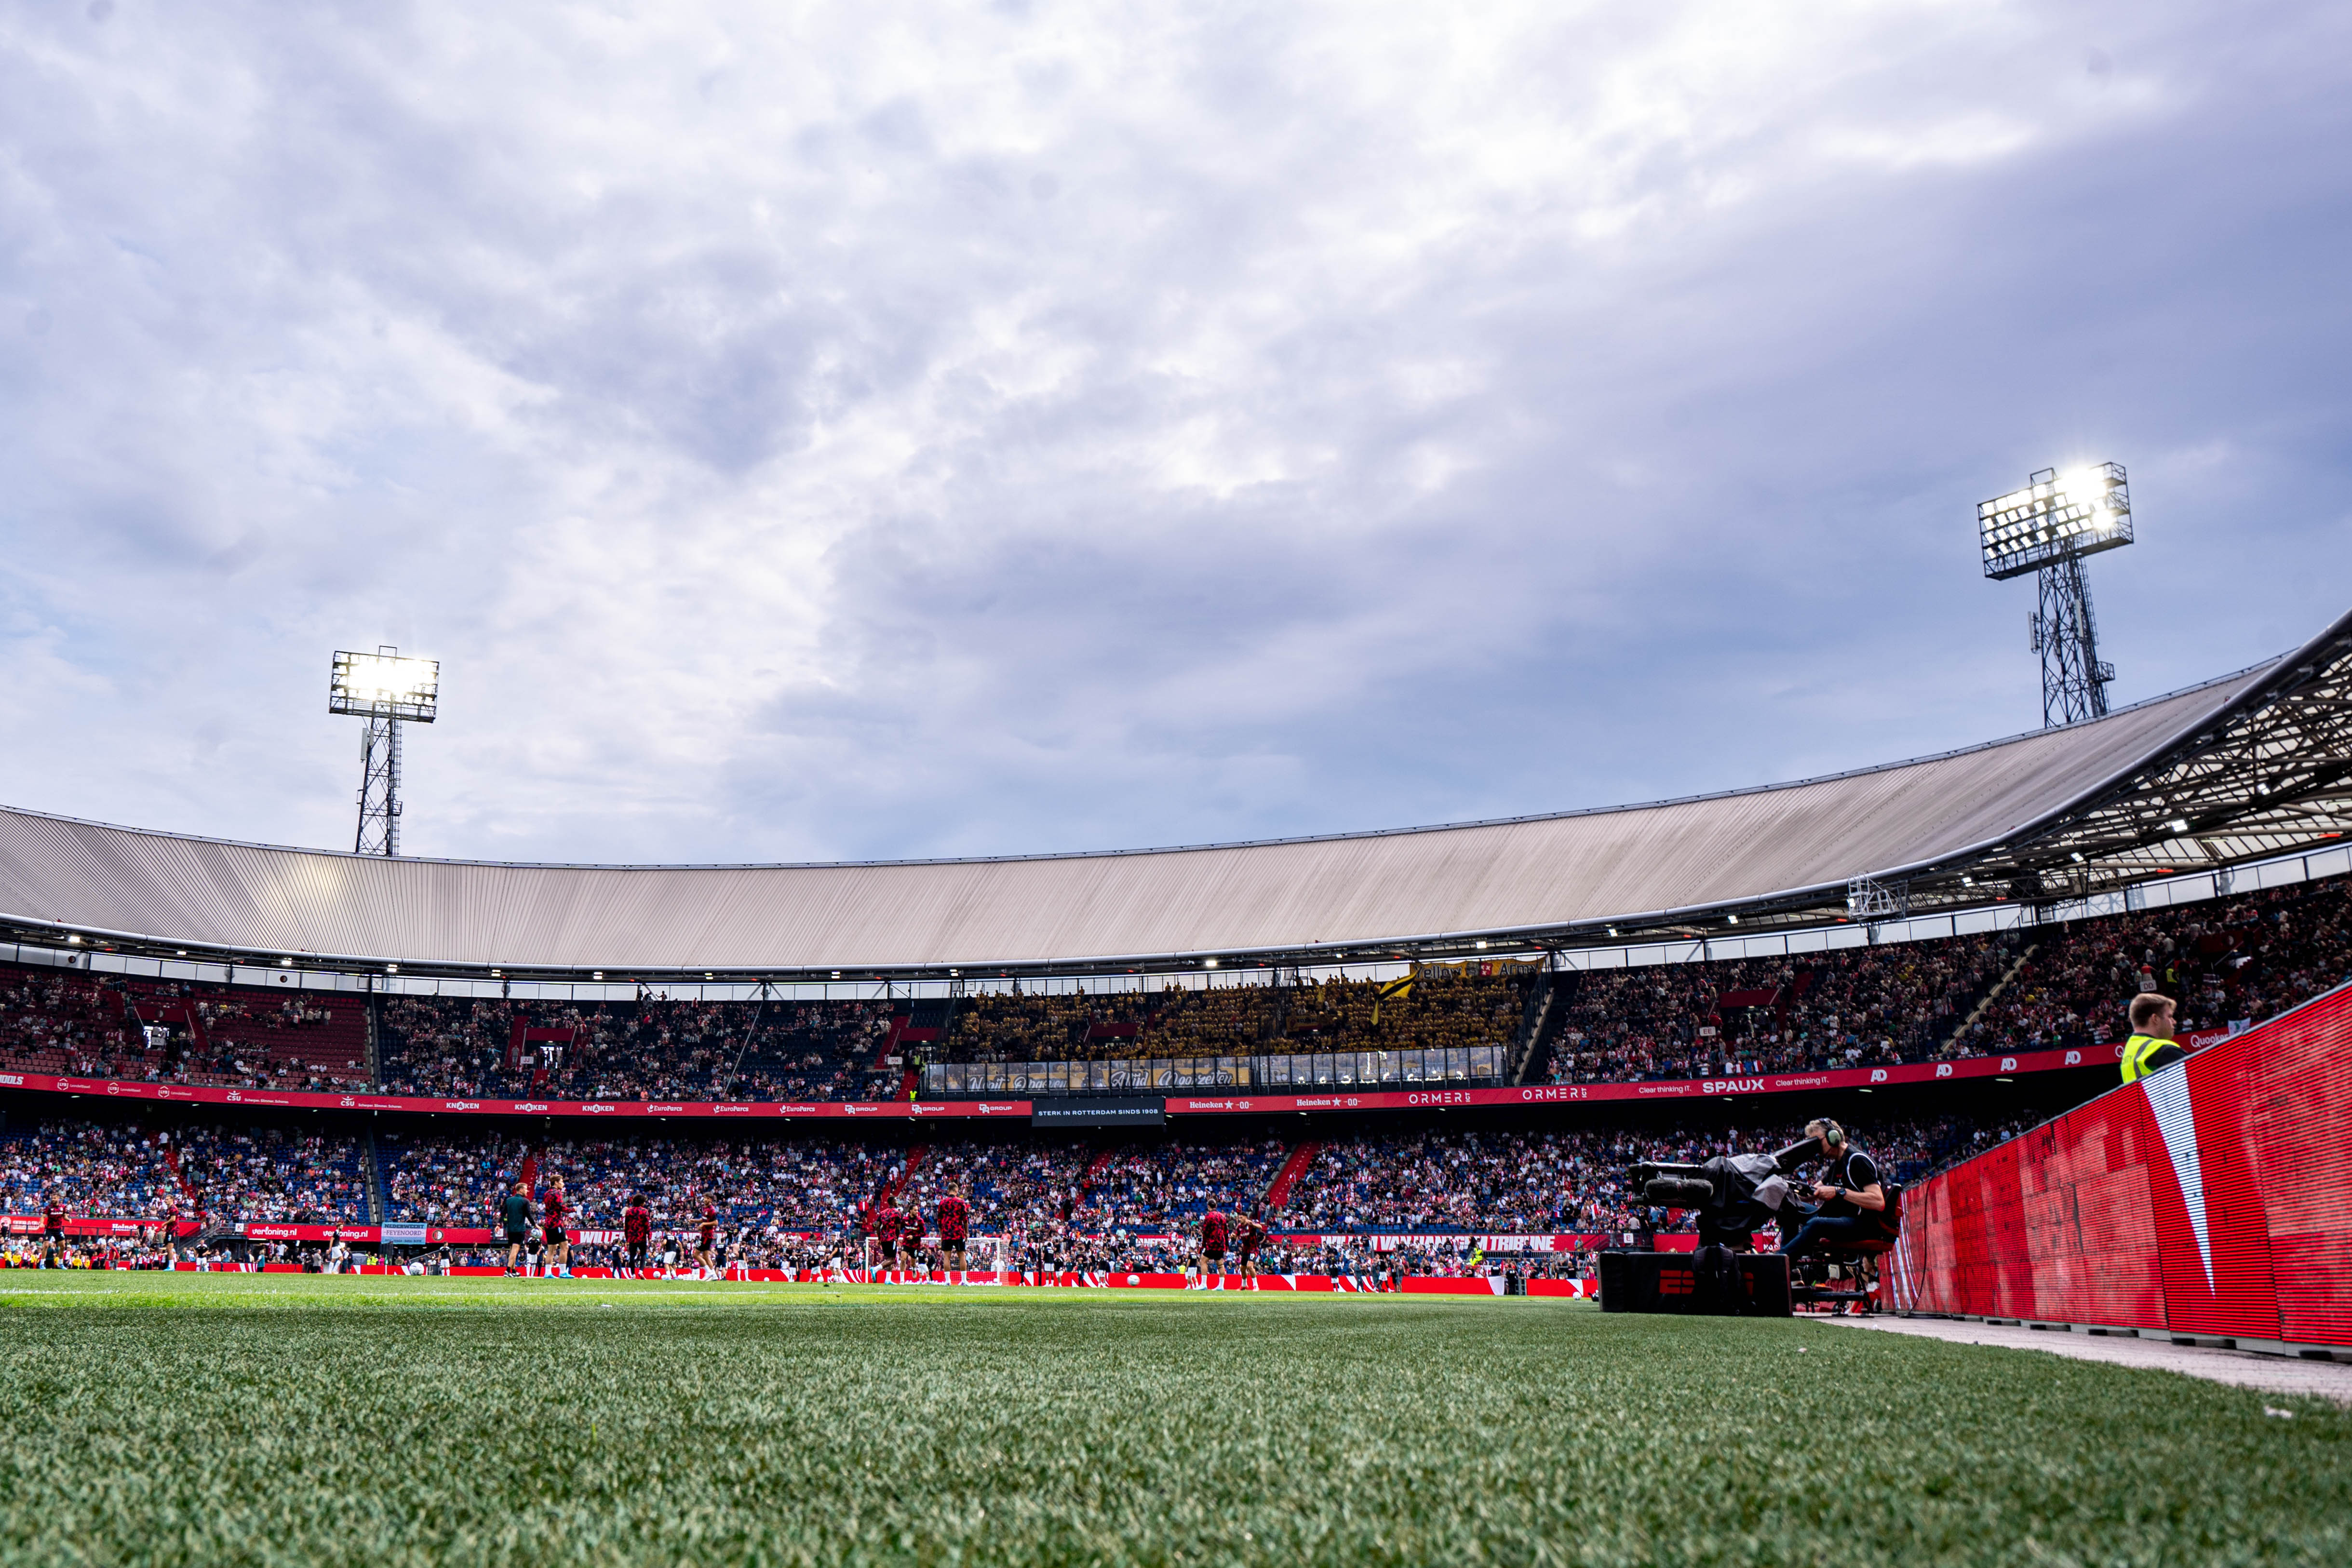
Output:
M1896 1180L1910 1182L2016 1126L2023 1121L1940 1119L1853 1131ZM630 1194L642 1192L661 1225L691 1227L703 1204L713 1204L743 1234L840 1237L882 1192L931 1215L946 1192L962 1187L978 1232L1063 1248L1103 1244L1105 1258L1136 1244L1145 1258L1164 1253L1150 1237L1183 1244L1207 1208L1265 1213L1277 1232L1621 1232L1642 1220L1623 1187L1628 1161L1705 1159L1790 1138L1792 1124L1327 1138L1279 1208L1268 1208L1268 1187L1291 1145L1272 1138L1014 1135L903 1147L854 1138L546 1140L510 1131L383 1131L374 1143L388 1222L485 1227L515 1180L543 1192L560 1173L581 1229L616 1229ZM75 1215L122 1220L365 1225L369 1218L360 1140L266 1126L42 1121L0 1133L7 1211L40 1213L52 1197ZM1675 1229L1665 1213L1651 1222Z

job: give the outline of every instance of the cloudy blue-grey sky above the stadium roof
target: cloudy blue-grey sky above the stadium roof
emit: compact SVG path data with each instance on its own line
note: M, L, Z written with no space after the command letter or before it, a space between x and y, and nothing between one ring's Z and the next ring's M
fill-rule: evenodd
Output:
M0 2L0 802L1117 849L2039 724L2352 604L2343 5Z

